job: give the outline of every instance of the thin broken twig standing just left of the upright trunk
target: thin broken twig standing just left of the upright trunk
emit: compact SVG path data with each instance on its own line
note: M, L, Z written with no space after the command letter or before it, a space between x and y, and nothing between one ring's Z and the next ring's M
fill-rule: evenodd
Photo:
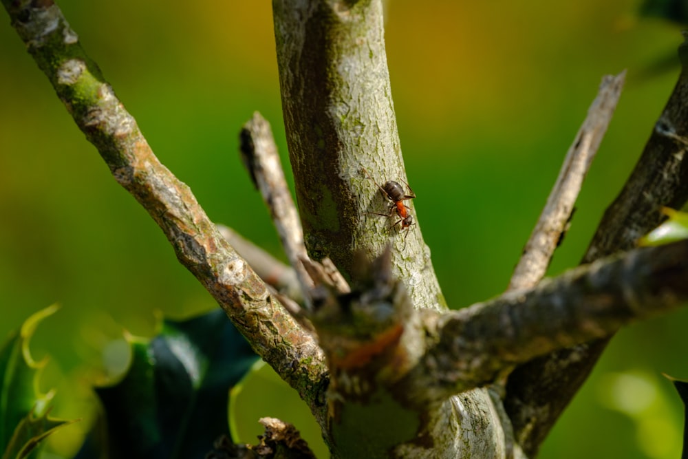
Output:
M284 252L296 271L302 291L310 292L313 281L301 264L301 259L308 258L303 244L303 228L284 178L270 123L256 111L241 129L240 138L244 165L270 209L272 222L277 228ZM310 308L308 295L304 295L304 299Z

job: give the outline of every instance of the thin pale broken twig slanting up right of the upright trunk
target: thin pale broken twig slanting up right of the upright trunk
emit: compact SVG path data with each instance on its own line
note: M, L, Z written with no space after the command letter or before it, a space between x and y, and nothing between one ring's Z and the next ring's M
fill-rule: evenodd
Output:
M568 229L583 179L612 119L624 80L625 72L602 79L588 116L566 153L557 182L514 270L509 290L532 287L544 277L552 255Z

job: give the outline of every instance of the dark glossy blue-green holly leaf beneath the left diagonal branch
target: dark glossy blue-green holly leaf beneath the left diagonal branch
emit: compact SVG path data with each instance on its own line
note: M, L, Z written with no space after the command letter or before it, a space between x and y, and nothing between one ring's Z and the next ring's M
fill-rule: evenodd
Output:
M101 445L77 458L202 458L228 428L229 391L258 356L221 309L187 321L165 320L153 339L128 336L124 378L96 393L105 410ZM89 450L90 449L90 450Z

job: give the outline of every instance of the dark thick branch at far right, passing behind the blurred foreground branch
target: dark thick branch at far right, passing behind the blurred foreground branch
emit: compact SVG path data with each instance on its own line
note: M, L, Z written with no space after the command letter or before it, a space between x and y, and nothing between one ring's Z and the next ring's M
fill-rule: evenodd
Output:
M679 47L682 72L641 158L609 206L583 263L636 245L662 222L663 206L679 209L688 200L688 44ZM504 405L517 440L535 456L552 425L588 378L608 340L559 350L520 365L510 374Z

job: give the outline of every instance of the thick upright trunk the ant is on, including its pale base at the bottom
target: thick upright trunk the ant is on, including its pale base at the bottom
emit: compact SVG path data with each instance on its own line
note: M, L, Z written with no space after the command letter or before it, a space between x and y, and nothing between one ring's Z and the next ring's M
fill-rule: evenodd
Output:
M394 220L370 214L386 213L389 202L365 171L380 185L407 181L387 70L382 2L275 0L272 5L289 156L310 255L330 257L352 278L356 250L372 258L391 242L393 273L406 285L413 306L446 309L418 224L405 240L388 230ZM355 425L333 419L325 428L334 456L362 451L367 457L385 456L394 445L399 457L409 458L504 458L510 450L510 434L503 429L503 422L509 429L508 420L499 416L499 397L491 397L487 389L428 407L423 418L407 420L410 431L392 429L384 442L356 432L389 430L398 412L390 409L385 415L380 405L367 403L355 409ZM345 440L336 442L333 432Z

